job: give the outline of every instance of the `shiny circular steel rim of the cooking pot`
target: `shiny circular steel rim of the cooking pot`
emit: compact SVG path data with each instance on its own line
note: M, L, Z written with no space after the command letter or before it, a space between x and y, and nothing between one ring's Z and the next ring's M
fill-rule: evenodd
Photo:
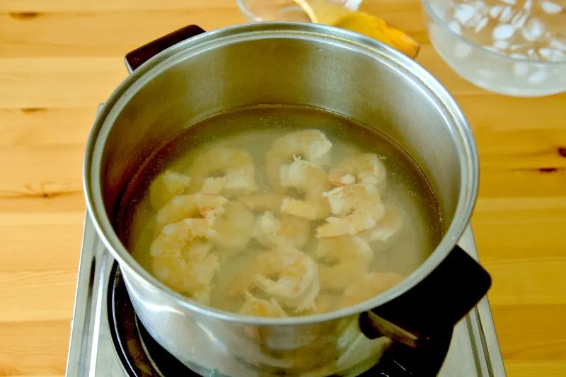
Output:
M383 64L389 64L398 73L409 76L412 81L417 81L422 89L434 95L439 111L445 112L447 120L451 120L455 129L451 132L458 132L458 150L461 168L460 193L458 204L454 213L454 219L441 239L437 248L427 257L420 267L415 269L403 282L400 282L392 289L371 298L368 301L358 303L355 306L340 309L330 313L305 315L300 317L288 318L261 318L252 315L243 315L229 311L221 311L210 306L192 301L190 298L179 294L161 283L151 275L144 267L134 260L134 257L122 245L117 236L110 219L105 210L102 199L102 187L100 179L100 162L103 156L105 140L108 132L112 128L115 116L120 112L122 105L125 105L129 98L137 92L144 81L158 74L168 65L175 64L178 59L186 59L190 52L197 54L210 48L218 47L235 40L247 40L250 37L316 37L325 42L336 42L345 45L350 50L357 50L368 54L374 58L386 58ZM96 163L96 166L93 164ZM103 105L100 114L96 118L91 133L86 144L86 153L83 165L83 189L86 198L86 206L89 216L93 221L98 236L103 240L106 248L112 253L122 270L125 270L125 277L132 274L133 277L150 284L154 289L161 293L171 296L178 304L189 308L197 313L208 315L219 320L229 320L231 322L247 323L254 325L302 325L320 323L337 318L344 318L349 315L357 315L364 311L376 308L393 298L404 294L413 286L418 284L424 277L434 270L444 258L451 252L454 245L468 226L470 216L475 206L478 194L479 168L478 154L475 146L472 131L468 125L460 108L454 98L446 91L446 88L435 79L432 74L426 71L420 64L409 59L404 54L391 47L364 35L335 28L328 25L297 22L263 22L235 25L228 28L221 28L191 37L188 40L179 42L169 47L167 50L156 54L146 63L130 74Z

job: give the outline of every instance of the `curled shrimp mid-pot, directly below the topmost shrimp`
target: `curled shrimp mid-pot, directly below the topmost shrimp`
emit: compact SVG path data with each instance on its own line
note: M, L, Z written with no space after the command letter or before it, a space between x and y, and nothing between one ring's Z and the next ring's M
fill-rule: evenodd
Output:
M282 212L309 220L328 216L328 200L323 197L323 192L328 188L328 178L322 168L301 158L295 158L291 164L281 166L279 183L282 187L306 192L305 200L283 199Z

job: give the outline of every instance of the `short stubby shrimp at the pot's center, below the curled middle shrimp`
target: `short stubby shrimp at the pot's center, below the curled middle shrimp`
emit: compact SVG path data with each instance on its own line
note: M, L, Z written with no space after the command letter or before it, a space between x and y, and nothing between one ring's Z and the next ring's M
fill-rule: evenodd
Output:
M253 238L268 247L291 245L301 248L310 236L310 221L287 214L277 217L272 212L261 214L253 230Z

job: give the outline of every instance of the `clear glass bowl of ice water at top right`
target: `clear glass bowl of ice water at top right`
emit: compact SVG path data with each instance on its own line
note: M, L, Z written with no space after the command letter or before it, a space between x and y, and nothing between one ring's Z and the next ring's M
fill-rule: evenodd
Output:
M423 0L434 50L487 91L536 97L566 91L565 11L555 0Z

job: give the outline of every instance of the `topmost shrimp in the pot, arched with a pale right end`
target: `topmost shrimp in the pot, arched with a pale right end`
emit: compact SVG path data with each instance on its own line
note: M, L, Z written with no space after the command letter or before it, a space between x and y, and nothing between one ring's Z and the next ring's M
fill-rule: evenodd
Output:
M276 192L284 193L284 187L279 179L280 168L285 163L291 163L295 158L301 157L320 166L331 148L332 143L318 129L291 132L279 137L265 155L265 170L272 187Z

